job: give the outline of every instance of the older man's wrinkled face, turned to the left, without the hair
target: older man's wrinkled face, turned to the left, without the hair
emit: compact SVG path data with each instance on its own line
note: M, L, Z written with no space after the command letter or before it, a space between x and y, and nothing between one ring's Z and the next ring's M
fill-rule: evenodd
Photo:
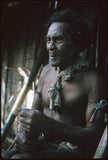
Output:
M48 29L46 47L49 52L49 63L64 66L68 63L72 52L72 40L67 33L67 23L52 23Z

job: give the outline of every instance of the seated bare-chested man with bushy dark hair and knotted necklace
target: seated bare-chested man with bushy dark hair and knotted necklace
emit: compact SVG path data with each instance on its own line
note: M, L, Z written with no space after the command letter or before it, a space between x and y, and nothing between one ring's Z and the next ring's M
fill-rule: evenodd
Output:
M79 55L91 43L90 30L70 9L53 14L47 27L49 64L32 109L20 113L16 149L2 157L91 158L104 129L105 90L101 73Z

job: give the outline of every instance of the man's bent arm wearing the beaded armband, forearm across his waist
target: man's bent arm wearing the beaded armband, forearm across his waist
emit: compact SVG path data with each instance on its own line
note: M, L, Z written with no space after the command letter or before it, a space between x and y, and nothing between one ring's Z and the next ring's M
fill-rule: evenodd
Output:
M99 102L105 99L104 81L102 76L97 72L91 72L89 77L85 78L87 82L88 102ZM45 132L52 134L55 138L60 138L65 141L70 141L76 145L87 145L97 143L104 127L104 109L97 111L97 114L92 122L89 122L94 109L87 106L85 117L86 126L78 127L67 125L49 117L43 117Z

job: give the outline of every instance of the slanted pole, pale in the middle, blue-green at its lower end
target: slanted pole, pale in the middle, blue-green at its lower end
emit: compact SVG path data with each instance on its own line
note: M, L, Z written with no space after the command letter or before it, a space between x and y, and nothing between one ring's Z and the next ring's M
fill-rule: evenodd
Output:
M24 102L24 99L29 91L29 88L32 84L32 82L34 81L35 79L35 76L39 70L39 67L40 67L40 64L41 64L41 60L42 60L42 57L43 57L43 52L40 53L40 56L38 56L37 58L37 63L34 61L34 65L32 67L32 70L31 70L31 73L30 73L30 76L28 77L28 80L27 80L27 83L23 86L23 88L21 89L14 105L13 105L13 108L5 122L5 125L1 131L1 141L3 143L3 141L5 140L6 138L6 135L8 133L8 130L10 129L10 127L12 126L17 114L18 114L18 108L21 107L22 103Z

